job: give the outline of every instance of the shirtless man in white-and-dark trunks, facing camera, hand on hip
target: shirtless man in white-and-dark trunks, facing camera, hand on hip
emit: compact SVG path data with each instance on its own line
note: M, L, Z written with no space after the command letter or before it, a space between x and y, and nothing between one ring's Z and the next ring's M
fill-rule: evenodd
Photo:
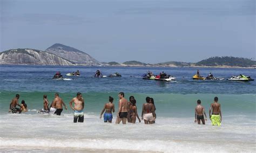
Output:
M73 102L75 103L74 107L72 106ZM69 105L74 110L74 123L77 120L78 122L84 122L84 99L82 94L77 93L77 96L69 102Z

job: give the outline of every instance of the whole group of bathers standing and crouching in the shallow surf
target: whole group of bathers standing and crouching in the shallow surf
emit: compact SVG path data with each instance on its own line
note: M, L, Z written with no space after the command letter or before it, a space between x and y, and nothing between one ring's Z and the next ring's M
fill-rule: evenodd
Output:
M136 106L136 99L134 96L130 96L129 101L124 98L124 93L120 92L118 94L119 102L118 102L118 113L116 124L119 124L121 121L123 124L126 122L136 123L136 117L138 118L139 122L141 122ZM25 104L25 101L22 100L22 104L19 105L19 94L16 94L15 98L12 99L10 103L9 113L21 113L28 111L28 107ZM104 113L104 122L112 123L113 115L112 113L115 112L114 109L114 99L109 96L109 102L105 103L102 112L100 113L100 119L102 119L102 115ZM74 105L73 105L74 103ZM74 111L73 113L73 122L84 122L84 99L82 97L82 93L77 93L75 98L72 98L69 102L70 108ZM21 108L17 108L17 106ZM53 99L50 108L49 108L49 101L47 99L47 95L43 95L43 106L42 110L39 110L38 113L51 113L55 115L60 115L63 111L63 106L67 110L64 101L62 98L59 97L59 94L55 94L55 98ZM144 120L145 124L153 124L156 121L156 106L154 105L154 99L150 98L149 96L146 97L146 102L143 103L142 106L142 120ZM218 103L218 97L214 98L214 103L211 103L209 109L209 116L213 126L220 126L222 121L220 104ZM195 120L200 124L202 122L205 124L207 121L207 116L205 113L205 108L201 105L201 100L197 101L197 107L195 108Z

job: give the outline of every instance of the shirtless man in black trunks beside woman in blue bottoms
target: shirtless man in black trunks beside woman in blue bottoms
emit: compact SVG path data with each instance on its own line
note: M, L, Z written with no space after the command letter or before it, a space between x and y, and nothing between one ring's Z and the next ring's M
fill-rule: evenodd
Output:
M118 105L118 113L117 113L117 124L121 121L123 124L126 124L127 115L129 111L128 101L124 98L124 93L120 92L118 94L119 97L119 105Z

